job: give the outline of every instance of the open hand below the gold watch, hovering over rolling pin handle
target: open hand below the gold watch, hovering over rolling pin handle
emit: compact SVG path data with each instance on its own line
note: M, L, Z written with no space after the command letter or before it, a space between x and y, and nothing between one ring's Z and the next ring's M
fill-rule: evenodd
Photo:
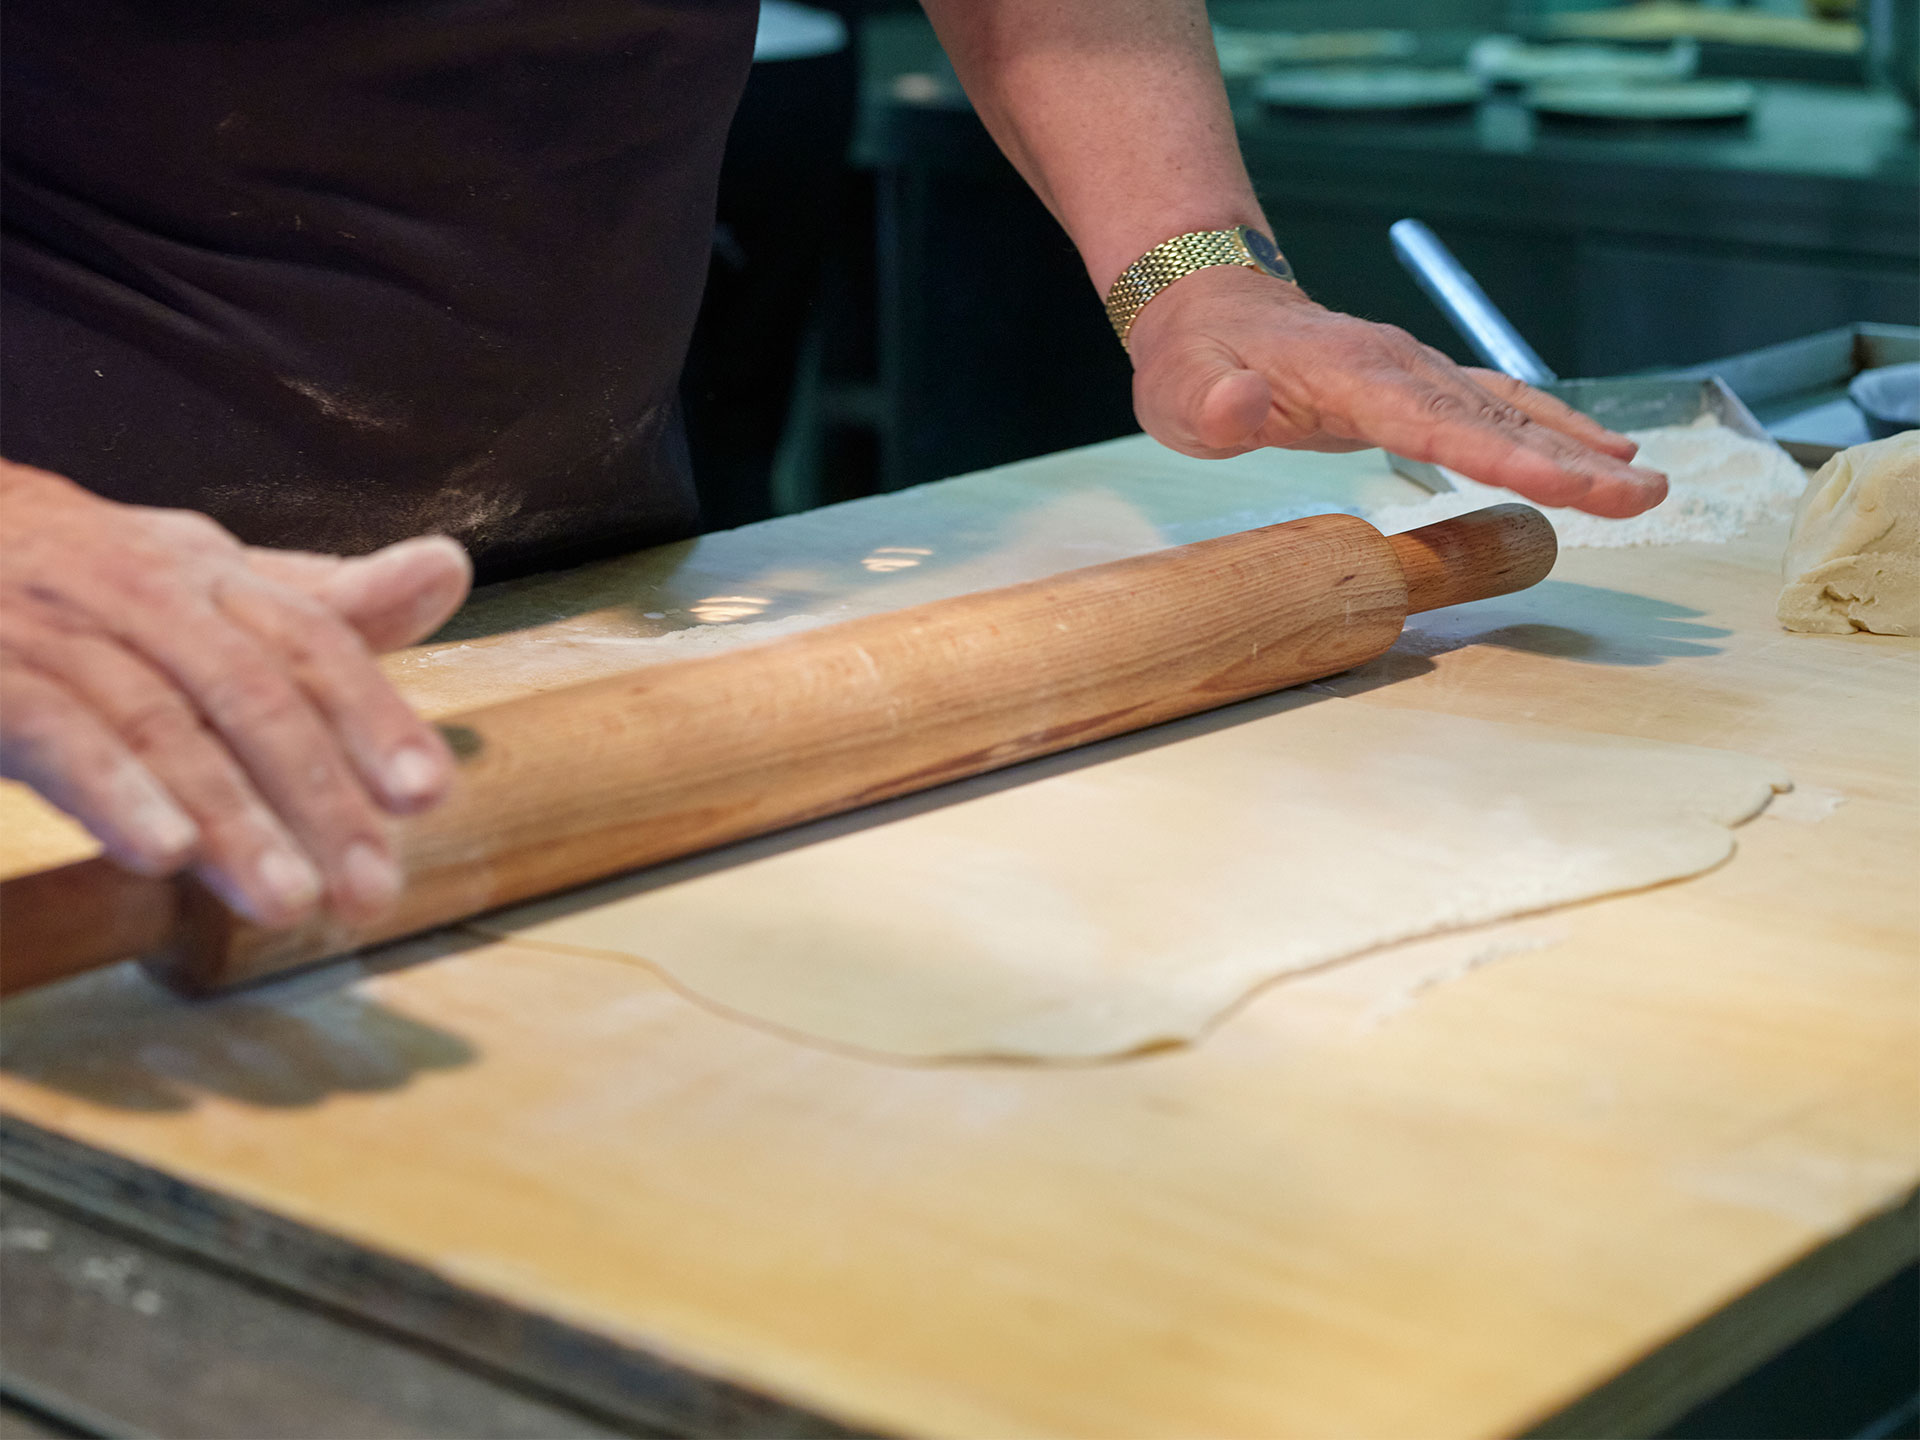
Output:
M1540 505L1628 516L1667 497L1663 474L1628 465L1626 436L1250 269L1167 286L1135 319L1129 349L1140 426L1185 455L1380 445Z

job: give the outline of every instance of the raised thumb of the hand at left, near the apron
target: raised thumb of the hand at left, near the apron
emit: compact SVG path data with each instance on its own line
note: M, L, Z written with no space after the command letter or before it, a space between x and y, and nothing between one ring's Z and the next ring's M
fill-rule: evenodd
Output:
M434 634L472 588L472 561L447 536L401 540L353 559L255 549L248 563L332 609L374 653Z

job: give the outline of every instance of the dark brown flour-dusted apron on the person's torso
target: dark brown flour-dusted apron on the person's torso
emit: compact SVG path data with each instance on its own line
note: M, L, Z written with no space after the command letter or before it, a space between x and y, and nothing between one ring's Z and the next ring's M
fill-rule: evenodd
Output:
M685 536L753 0L10 0L0 453L488 576Z

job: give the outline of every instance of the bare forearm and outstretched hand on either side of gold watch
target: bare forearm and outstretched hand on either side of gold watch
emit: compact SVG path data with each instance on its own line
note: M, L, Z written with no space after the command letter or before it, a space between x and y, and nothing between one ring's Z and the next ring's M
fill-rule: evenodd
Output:
M922 0L993 138L1102 294L1187 230L1267 228L1204 0ZM1284 240L1284 236L1277 236ZM1162 298L1164 296L1164 298ZM1667 480L1551 396L1240 265L1165 286L1127 334L1140 426L1187 455L1384 445L1542 505L1638 515Z

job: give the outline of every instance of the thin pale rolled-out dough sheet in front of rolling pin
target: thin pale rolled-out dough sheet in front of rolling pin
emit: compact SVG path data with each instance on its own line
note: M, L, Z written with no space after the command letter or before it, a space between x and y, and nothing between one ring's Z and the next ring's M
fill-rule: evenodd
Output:
M1194 1039L1275 975L1699 874L1788 785L1288 693L474 924L841 1046L1087 1060Z

